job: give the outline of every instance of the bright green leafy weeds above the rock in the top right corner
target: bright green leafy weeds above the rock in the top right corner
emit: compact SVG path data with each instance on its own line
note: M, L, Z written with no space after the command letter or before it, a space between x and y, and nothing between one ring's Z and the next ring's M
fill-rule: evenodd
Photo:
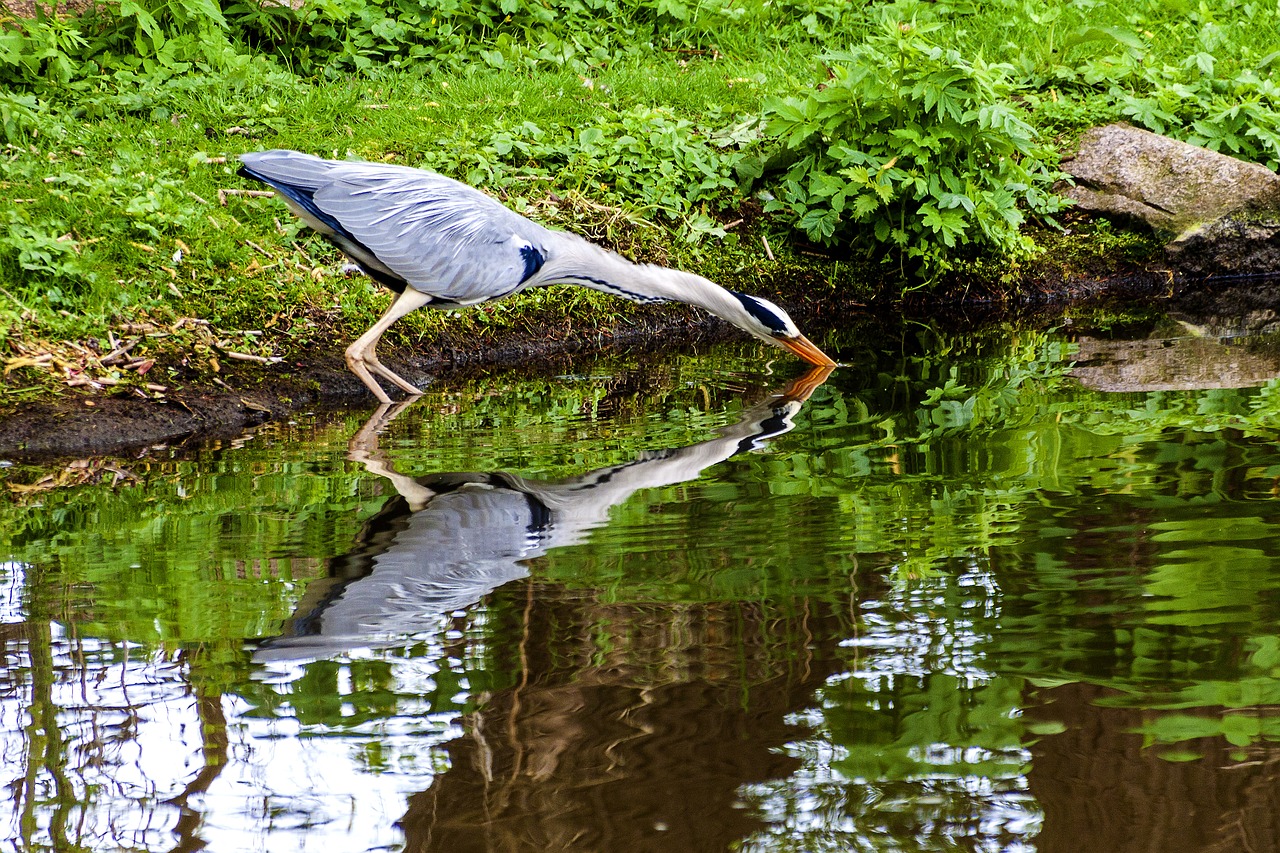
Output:
M900 3L897 5L905 5ZM1030 120L1117 119L1280 169L1280 6L1260 0L911 5L1014 67Z

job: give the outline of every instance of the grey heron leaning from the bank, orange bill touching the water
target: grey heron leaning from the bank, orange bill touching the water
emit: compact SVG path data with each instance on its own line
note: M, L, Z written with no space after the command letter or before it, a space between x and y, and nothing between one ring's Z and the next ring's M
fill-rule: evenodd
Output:
M378 360L378 341L396 320L422 306L479 305L550 284L577 284L635 302L687 302L809 364L836 366L767 300L691 273L632 264L434 172L284 150L242 154L239 160L241 175L275 190L302 222L398 295L346 351L347 366L384 403L390 397L375 375L407 394L421 393Z

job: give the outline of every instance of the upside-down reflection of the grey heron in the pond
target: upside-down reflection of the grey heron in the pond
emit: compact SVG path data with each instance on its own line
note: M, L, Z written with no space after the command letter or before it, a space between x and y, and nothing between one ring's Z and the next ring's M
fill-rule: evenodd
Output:
M716 438L557 482L502 471L399 474L378 447L378 430L399 409L383 407L352 438L349 457L390 480L399 496L370 519L361 546L334 561L329 579L307 587L285 634L264 640L256 657L316 657L426 630L526 576L525 561L580 542L636 491L694 479L790 432L791 419L829 373L814 369L794 380Z

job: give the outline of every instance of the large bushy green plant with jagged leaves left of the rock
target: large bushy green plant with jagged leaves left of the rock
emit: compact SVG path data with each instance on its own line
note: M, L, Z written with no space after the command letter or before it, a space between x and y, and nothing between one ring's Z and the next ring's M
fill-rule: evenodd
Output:
M1029 255L1028 213L1065 204L1050 190L1052 152L1010 100L1011 68L932 44L937 28L884 15L863 44L823 56L829 79L764 106L788 163L765 210L927 279L973 248Z

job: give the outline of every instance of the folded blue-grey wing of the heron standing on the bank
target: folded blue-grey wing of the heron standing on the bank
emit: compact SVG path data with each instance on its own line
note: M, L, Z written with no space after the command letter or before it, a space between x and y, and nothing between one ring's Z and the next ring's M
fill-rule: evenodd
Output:
M471 305L520 289L543 265L541 225L439 174L334 164L312 200L412 287Z

